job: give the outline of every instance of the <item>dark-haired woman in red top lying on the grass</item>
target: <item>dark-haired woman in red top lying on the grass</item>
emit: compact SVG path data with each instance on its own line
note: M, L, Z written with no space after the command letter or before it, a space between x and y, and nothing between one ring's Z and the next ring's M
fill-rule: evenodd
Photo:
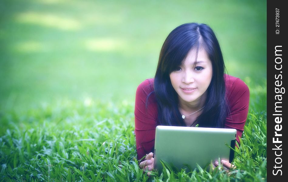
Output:
M235 128L239 143L248 106L249 89L225 74L213 30L198 23L178 26L162 46L154 79L146 79L136 91L137 158L145 156L139 166L153 169L157 125ZM232 167L228 161L221 163Z

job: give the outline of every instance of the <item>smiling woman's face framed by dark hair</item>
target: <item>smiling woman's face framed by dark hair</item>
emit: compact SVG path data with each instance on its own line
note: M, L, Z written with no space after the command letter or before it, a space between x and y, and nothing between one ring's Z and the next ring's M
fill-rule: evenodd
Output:
M173 88L178 93L179 101L192 105L206 98L204 94L211 83L212 63L204 49L198 50L195 65L196 50L188 52L183 65L170 73Z

